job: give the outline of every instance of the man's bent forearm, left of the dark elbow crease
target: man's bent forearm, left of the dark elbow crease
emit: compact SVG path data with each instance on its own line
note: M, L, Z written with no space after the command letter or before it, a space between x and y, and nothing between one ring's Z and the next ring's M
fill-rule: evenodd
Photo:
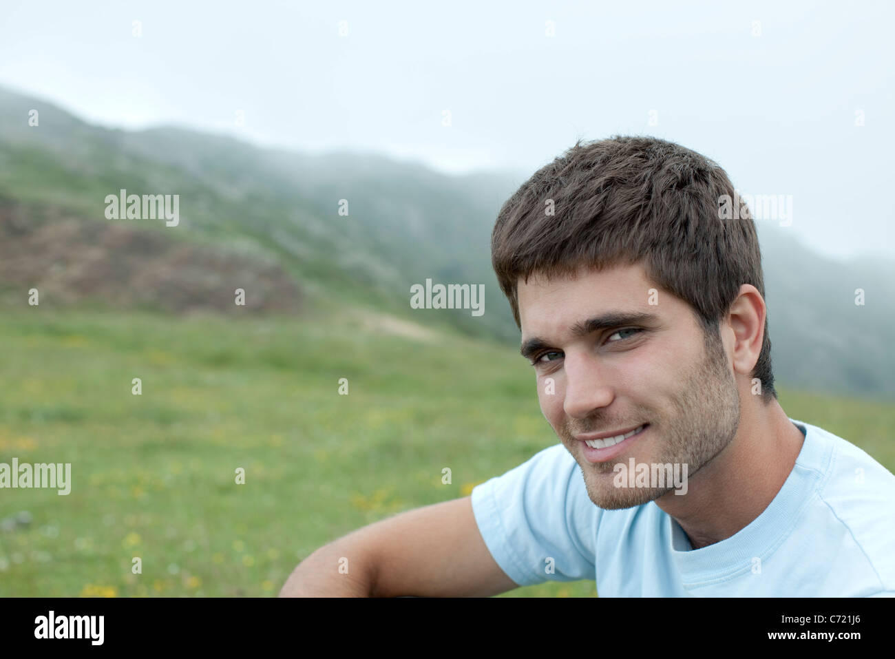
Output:
M298 564L280 597L372 597L375 561L351 536L320 547Z

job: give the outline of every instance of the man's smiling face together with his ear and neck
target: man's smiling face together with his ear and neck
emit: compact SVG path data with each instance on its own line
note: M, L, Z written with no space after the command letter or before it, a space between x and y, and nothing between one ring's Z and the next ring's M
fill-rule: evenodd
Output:
M761 425L744 424L741 432L763 441L731 445L743 401L765 405L750 396L764 318L755 288L743 287L731 309L738 336L730 329L722 345L671 295L651 310L647 298L656 297L648 291L656 286L641 266L530 282L519 292L523 328L532 335L524 338L522 353L537 373L541 410L581 466L591 501L602 509L625 509L658 500L666 512L674 507L681 516L686 509L707 511L704 520L684 526L691 539L709 544L767 506L804 438L772 399L765 414L754 415ZM711 464L713 475L711 481L704 474L695 478L693 492L688 481L690 496L678 499L671 483L620 486L616 472L627 457L638 465L686 466L687 475ZM749 498L757 492L765 495Z

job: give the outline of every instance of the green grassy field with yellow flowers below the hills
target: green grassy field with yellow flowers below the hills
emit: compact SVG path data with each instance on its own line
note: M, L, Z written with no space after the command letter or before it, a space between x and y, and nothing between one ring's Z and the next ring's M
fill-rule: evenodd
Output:
M36 307L4 312L0 342L0 462L72 463L68 496L0 492L0 519L32 518L0 530L0 596L276 595L321 544L557 442L524 360L455 336ZM891 405L780 400L895 468ZM503 596L545 595L595 588Z

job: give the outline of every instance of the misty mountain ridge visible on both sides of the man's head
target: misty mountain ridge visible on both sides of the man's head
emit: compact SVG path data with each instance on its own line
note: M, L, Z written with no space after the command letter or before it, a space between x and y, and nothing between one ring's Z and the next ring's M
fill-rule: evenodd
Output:
M525 177L107 129L0 89L0 304L38 286L59 304L233 313L241 287L260 313L358 307L515 344L490 231ZM107 219L121 189L179 195L178 225ZM895 397L892 264L827 260L784 228L759 230L778 381ZM483 284L488 312L410 309L427 278Z

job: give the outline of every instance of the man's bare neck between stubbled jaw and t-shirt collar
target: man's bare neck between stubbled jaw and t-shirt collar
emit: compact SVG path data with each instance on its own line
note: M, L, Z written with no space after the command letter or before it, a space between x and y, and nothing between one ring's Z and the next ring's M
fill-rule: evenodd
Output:
M754 400L754 399L753 399ZM736 534L761 515L786 482L804 435L776 399L741 410L737 435L690 475L684 496L656 500L678 521L694 549Z

